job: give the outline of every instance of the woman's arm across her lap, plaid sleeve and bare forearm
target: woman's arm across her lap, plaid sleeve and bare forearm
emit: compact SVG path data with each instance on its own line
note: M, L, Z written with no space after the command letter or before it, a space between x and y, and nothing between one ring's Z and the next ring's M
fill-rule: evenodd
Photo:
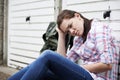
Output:
M100 73L112 69L113 51L111 43L111 30L108 26L100 23L95 28L96 50L100 55L100 62L94 64L83 65L90 72Z

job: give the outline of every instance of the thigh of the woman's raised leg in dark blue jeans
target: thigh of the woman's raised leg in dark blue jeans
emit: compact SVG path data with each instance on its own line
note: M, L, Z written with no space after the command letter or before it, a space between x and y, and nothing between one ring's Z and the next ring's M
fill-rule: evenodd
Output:
M72 61L48 51L49 69L62 80L93 80L91 75L81 66ZM53 54L51 54L53 53Z

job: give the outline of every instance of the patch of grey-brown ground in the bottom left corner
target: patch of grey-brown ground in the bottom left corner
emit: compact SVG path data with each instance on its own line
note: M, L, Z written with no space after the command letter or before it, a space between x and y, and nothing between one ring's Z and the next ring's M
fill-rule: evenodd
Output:
M18 70L4 65L0 65L0 80L7 80L9 76L16 73Z

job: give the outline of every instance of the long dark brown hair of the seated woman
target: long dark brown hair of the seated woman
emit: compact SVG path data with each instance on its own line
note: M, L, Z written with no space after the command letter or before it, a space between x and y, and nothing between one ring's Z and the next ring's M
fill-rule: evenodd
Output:
M60 25L63 22L63 19L71 19L75 16L74 15L75 13L78 13L81 16L81 18L83 18L83 20L84 20L84 32L82 35L83 43L84 43L86 41L87 34L91 28L91 21L92 20L85 18L79 12L72 11L72 10L63 10L57 17L57 25L58 25L58 28L60 29Z

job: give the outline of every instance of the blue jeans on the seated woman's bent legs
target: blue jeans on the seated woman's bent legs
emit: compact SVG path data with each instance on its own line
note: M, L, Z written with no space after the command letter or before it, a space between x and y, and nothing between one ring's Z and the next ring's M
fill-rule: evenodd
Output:
M93 78L76 63L46 50L32 64L8 80L93 80Z

